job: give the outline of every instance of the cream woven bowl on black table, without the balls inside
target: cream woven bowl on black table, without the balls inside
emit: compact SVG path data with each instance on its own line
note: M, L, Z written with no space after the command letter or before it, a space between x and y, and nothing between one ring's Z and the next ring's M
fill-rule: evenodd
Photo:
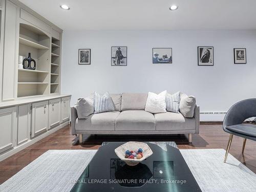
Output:
M126 150L135 151L135 150L138 150L139 148L142 148L143 150L143 157L141 159L124 158ZM153 154L151 148L146 143L136 142L136 141L129 141L127 143L120 145L115 149L115 153L122 161L124 161L127 165L130 165L130 166L135 166L139 164L141 161L143 161L147 157L150 157Z

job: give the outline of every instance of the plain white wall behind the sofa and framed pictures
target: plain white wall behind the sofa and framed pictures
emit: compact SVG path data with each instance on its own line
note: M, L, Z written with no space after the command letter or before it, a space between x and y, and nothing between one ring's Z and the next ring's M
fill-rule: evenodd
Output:
M127 46L127 67L111 66L111 46ZM214 46L214 66L197 65L197 46ZM173 64L153 65L152 48L173 48ZM91 65L78 65L78 49L91 48ZM233 48L247 49L234 65ZM61 93L180 90L197 98L201 112L226 112L256 97L256 31L64 31Z

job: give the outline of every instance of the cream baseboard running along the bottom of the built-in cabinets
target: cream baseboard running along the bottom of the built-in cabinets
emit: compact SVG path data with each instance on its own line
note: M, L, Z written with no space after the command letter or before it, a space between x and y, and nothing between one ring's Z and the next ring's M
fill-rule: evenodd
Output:
M15 146L15 147L11 148L10 150L8 150L7 152L4 152L4 154L2 154L2 155L0 156L0 161L3 161L4 159L6 159L6 158L8 158L8 157L10 157L10 156L12 156L12 155L14 155L15 153L24 150L24 148L26 148L26 147L28 147L28 146L30 146L30 145L36 143L37 141L39 141L39 140L41 140L41 139L47 137L48 135L50 135L50 134L52 134L52 133L54 133L54 132L60 130L61 128L63 128L64 126L66 126L66 125L68 125L68 124L69 124L69 121L63 122L63 123L61 123L60 125L58 125L58 126L52 128L51 130L48 130L46 133L43 133L43 134L41 134L41 135L38 135L37 137L35 137L35 138L33 138L33 139L30 139L30 140L28 140L28 141L26 141L26 142L24 142L24 143L22 143L22 144L20 144L20 145L17 145L17 146Z

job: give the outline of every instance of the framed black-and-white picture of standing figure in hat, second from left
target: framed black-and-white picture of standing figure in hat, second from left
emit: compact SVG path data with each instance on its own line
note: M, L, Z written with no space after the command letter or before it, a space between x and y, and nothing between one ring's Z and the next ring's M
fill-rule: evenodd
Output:
M111 66L127 66L127 47L111 47Z

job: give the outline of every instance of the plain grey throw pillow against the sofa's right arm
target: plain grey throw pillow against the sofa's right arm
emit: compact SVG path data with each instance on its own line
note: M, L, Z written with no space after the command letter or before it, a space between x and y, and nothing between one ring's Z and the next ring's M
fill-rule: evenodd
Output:
M194 96L180 95L180 113L186 118L194 117L196 98Z

